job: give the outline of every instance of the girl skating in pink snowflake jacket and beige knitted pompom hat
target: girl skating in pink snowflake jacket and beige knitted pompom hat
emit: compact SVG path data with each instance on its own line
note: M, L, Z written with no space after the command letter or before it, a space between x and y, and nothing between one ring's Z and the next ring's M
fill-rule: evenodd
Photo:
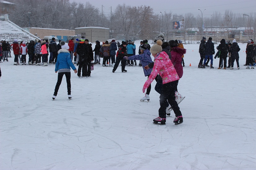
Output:
M157 44L150 48L150 53L155 57L153 70L143 86L143 93L149 87L150 83L155 79L157 74L159 74L163 79L163 93L160 95L160 108L159 117L153 119L153 123L165 125L166 122L166 106L165 101L173 108L175 113L174 123L175 125L181 124L183 122L182 113L180 108L175 101L175 90L178 85L179 76L173 67L173 63L169 59L167 53L162 52L162 41L157 40Z

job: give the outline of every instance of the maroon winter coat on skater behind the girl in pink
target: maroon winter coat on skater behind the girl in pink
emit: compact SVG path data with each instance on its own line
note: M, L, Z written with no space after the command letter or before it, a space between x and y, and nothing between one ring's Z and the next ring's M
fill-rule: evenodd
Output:
M179 47L172 48L171 61L173 63L173 66L174 66L179 78L182 78L182 75L183 75L183 67L182 67L181 63L182 63L182 55L184 55L184 54L186 54L186 49L182 49Z

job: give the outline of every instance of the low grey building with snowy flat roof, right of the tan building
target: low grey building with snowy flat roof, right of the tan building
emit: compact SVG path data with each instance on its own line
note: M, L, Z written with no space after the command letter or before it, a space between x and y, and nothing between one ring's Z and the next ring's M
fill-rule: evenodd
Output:
M84 36L89 42L106 41L109 39L109 28L81 27L75 28L75 34Z

